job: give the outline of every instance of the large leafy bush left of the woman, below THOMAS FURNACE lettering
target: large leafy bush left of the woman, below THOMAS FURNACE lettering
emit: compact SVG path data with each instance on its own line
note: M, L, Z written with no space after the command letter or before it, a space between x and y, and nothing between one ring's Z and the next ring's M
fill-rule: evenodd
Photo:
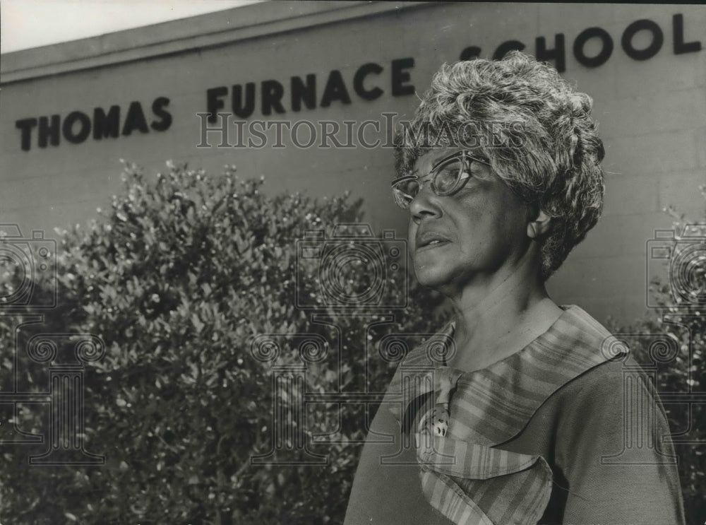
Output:
M318 261L297 266L296 241L307 229L358 223L360 201L265 196L262 180L239 180L234 167L211 177L168 166L156 182L126 167L124 192L109 211L88 229L61 232L59 307L42 311L40 326L18 331L24 370L13 369L12 317L0 317L0 372L17 372L20 391L47 391L46 367L25 356L37 331L95 334L106 344L104 357L85 369L83 403L85 449L105 464L30 467L28 455L46 444L4 444L0 515L52 525L340 522L366 435L364 405L309 405L299 429L301 391L285 391L284 435L305 432L309 451L328 455L328 464L251 465L251 456L274 445L273 364L301 365L296 334L316 334L329 345L304 360L307 392L382 390L395 365L374 343L388 332L436 329L419 306L436 297L412 290L416 300L397 310L395 322L383 319L388 312L365 314L364 305L337 314L325 308ZM348 293L369 285L361 270L342 270ZM4 297L21 276L12 277ZM37 286L35 297L50 293ZM296 293L337 328L313 323L295 307ZM402 271L390 272L378 300L397 305L405 293ZM251 352L260 334L280 334L273 336L277 360ZM61 345L70 351L71 341ZM19 403L13 422L46 432L46 404ZM325 442L311 444L314 435ZM285 446L272 459L308 458Z

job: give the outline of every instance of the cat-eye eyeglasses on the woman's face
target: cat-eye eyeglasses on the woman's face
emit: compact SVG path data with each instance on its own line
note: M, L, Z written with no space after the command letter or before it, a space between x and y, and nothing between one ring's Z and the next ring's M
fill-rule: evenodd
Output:
M474 162L490 165L486 160L472 157L467 151L459 151L438 160L425 177L431 181L431 191L440 197L455 194L471 177L471 165ZM397 206L408 209L424 184L426 182L421 182L418 175L405 175L393 180L393 197Z

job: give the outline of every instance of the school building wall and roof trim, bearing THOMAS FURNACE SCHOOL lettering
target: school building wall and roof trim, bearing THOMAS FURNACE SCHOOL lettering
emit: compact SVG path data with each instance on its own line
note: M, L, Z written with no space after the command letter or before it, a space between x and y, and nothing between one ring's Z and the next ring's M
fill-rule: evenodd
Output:
M681 22L675 15L683 15ZM627 28L642 27L633 25L642 19L652 23L642 23L646 28L633 35L637 51L630 57L621 38ZM584 33L589 28L600 28L614 44L599 65L585 65L587 59L582 63L574 52L582 33L599 32ZM662 45L650 53L658 33ZM221 111L230 111L231 86L252 82L257 96L246 119L250 123L306 119L359 124L371 119L383 122L383 129L366 137L384 143L383 114L397 114L394 122L412 117L415 93L426 90L444 61L459 59L464 50L472 54L469 47L491 58L509 40L541 57L537 39L543 37L551 50L561 34L563 53L544 58L561 66L563 57L563 76L594 98L608 177L602 220L551 278L549 288L558 302L578 303L599 319L630 320L645 310L646 242L655 228L671 226L662 208L674 204L693 216L702 212L698 186L706 182L706 52L697 42L706 42L705 33L702 6L274 2L6 54L0 95L1 222L18 223L25 236L32 229L51 232L83 223L119 191L119 159L143 165L148 173L165 170L164 161L172 159L212 172L235 164L244 177L264 175L273 193L304 189L324 196L350 189L366 200L373 227L395 228L402 236L405 213L390 199L390 148L364 148L355 138L352 148L297 148L287 134L285 147L275 148L274 129L263 148L220 148L214 132L207 135L212 147L199 148L203 122L198 113L208 110L208 90L227 88L219 100L224 102ZM603 48L593 37L582 49L590 59ZM653 56L640 56L646 48ZM357 71L369 63L381 67L363 83L365 90L382 90L374 100L354 90ZM396 81L395 67L402 75ZM330 105L322 107L327 83L337 85L332 71L340 72L350 103L340 100L339 85L330 92ZM305 81L311 73L316 75L316 107L294 111L290 78ZM282 85L282 114L263 115L263 81ZM139 102L148 126L153 121L164 126L166 121L151 109L159 98L168 99L163 110L171 117L164 131L140 131L133 107L135 129L127 136L88 136L71 143L61 135L57 146L42 148L37 122L27 131L28 149L22 148L23 131L16 122L40 117L50 122L52 115L66 122L72 112L95 120L96 107L108 112L119 106L122 128L131 102ZM78 134L80 127L76 122L69 134ZM306 129L301 126L302 141ZM237 143L236 130L229 130L229 142ZM338 137L345 142L345 134Z

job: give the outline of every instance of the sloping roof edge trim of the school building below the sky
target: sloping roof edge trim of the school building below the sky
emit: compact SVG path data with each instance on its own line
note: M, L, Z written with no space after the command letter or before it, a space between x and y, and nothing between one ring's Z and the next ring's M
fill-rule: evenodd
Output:
M0 63L0 83L7 84L226 45L239 40L429 4L431 2L265 1L71 42L5 53Z

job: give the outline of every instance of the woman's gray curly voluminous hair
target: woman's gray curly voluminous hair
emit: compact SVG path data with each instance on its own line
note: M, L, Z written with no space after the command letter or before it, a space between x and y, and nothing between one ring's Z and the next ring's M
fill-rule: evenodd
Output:
M395 169L406 175L432 146L473 143L517 196L551 216L540 240L546 281L603 208L605 151L592 105L556 69L520 52L444 64L395 138Z

